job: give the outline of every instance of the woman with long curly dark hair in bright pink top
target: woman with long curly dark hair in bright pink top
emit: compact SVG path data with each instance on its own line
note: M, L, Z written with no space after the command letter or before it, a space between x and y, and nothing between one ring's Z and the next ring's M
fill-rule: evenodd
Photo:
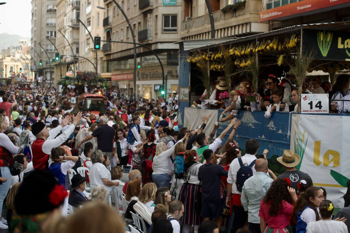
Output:
M297 197L295 189L290 188L290 180L276 179L260 202L260 230L266 233L292 233L290 216ZM267 224L266 224L267 223Z

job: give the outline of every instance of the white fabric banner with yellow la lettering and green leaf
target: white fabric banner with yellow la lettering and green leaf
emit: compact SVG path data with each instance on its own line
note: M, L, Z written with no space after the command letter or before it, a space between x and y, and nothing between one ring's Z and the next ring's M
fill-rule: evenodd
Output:
M290 150L300 155L296 167L310 175L314 186L327 191L335 207L344 207L350 178L350 116L293 114Z

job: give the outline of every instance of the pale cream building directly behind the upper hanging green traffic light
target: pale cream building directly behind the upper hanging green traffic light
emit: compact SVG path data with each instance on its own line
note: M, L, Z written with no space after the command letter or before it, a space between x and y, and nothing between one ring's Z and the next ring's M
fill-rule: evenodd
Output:
M97 8L98 6L103 6L102 0L80 0L80 20L90 31L92 38L103 36L103 10ZM96 58L96 52L93 50L93 39L89 32L81 23L79 29L78 70L95 72L94 66L96 66L97 59L97 73L101 74L103 72L103 52L102 50L97 51Z

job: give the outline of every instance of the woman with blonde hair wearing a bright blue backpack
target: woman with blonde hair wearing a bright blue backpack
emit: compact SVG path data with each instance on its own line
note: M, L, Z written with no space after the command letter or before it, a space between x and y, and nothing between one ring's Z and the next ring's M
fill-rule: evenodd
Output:
M183 143L175 145L175 151L173 155L174 160L174 175L172 187L170 188L170 194L173 200L177 200L180 194L183 181L183 165L184 165L184 154L186 152L186 146Z

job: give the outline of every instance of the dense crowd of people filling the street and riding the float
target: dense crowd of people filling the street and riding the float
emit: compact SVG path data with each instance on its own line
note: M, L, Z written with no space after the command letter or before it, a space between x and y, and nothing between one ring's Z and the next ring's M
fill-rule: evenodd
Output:
M333 87L342 89L334 93L336 99L347 96L350 79L345 76ZM313 82L311 91L321 93L320 80ZM177 93L156 101L106 93L107 110L96 114L62 107L62 94L54 88L0 90L0 210L4 202L8 209L0 229L350 232L350 202L332 220L334 205L326 189L313 186L311 177L296 169L298 154L285 150L277 161L286 171L276 176L268 169L269 151L259 149L257 140L245 142L245 154L234 140L239 110L265 109L265 117L271 117L273 111L295 108L297 93L285 83L292 85L288 79L279 85L273 75L263 83L268 88L262 94L276 106L257 97L259 103L244 108L248 101L241 95L250 85L241 82L239 91L230 93L225 112L232 114L220 117L229 124L218 137L219 126L208 125L211 115L196 128L178 128ZM70 89L68 95L78 93ZM64 216L67 205L74 213Z

